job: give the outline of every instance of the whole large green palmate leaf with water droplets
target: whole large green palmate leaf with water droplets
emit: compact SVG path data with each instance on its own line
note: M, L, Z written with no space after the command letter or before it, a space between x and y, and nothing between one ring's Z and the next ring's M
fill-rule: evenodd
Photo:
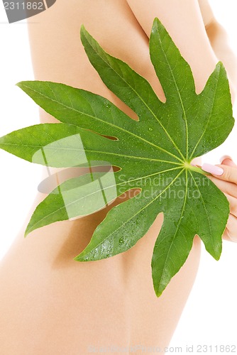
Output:
M9 133L0 138L0 148L42 165L89 167L86 175L63 182L38 205L26 235L53 222L93 213L123 192L139 188L138 195L108 212L75 260L97 261L130 249L163 212L151 261L159 297L187 259L195 234L216 260L221 255L228 200L190 162L223 143L233 128L226 71L219 62L202 93L196 94L188 63L155 18L150 58L165 92L163 103L143 77L104 52L83 26L81 39L101 80L139 120L92 92L53 82L18 83L62 123ZM120 170L92 172L92 166L101 165Z

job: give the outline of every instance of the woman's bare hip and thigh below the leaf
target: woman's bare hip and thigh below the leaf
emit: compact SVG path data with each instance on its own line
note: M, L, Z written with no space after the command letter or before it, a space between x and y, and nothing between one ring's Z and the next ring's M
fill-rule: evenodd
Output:
M157 298L150 262L162 215L125 253L76 262L101 220L94 219L56 223L26 239L23 231L18 235L0 268L1 354L77 355L169 344L197 273L199 239Z

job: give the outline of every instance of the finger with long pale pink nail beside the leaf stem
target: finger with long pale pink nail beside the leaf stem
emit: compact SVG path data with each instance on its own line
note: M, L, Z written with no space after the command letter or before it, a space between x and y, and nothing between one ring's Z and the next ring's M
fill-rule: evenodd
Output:
M220 180L225 180L237 184L237 168L229 165L202 164L202 170L211 173Z

